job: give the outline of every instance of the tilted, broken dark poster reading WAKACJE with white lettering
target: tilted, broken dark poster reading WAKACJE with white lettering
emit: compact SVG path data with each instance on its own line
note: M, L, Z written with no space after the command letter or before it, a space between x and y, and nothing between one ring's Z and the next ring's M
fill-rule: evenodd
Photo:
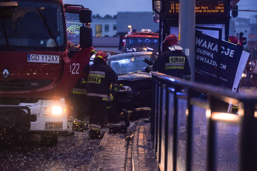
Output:
M249 53L247 55L247 52L243 52L241 45L223 40L219 42L217 38L196 30L195 81L236 91L249 57Z

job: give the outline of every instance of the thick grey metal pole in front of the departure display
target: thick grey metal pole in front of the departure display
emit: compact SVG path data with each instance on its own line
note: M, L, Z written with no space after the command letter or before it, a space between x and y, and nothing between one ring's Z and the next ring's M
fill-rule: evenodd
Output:
M195 0L179 1L179 45L191 67L191 81L195 80Z

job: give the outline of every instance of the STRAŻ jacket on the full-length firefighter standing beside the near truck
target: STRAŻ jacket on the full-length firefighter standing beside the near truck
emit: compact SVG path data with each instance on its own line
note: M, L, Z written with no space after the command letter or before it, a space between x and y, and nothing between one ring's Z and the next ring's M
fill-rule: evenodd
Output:
M118 81L117 74L102 59L94 59L87 78L88 100L109 100L110 85Z

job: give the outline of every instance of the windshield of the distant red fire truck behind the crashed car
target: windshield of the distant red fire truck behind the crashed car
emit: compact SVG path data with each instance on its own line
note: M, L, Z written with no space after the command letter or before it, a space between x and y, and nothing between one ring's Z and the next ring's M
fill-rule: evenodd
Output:
M154 52L158 52L158 38L127 38L126 50L135 48L136 51L147 51L147 47L154 49Z

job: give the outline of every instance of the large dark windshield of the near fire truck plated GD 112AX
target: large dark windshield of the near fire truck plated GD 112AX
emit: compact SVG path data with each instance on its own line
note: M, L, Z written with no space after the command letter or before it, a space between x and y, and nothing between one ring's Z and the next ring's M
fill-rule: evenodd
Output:
M3 51L66 49L61 2L18 0L15 8L0 6L0 20L0 49Z

